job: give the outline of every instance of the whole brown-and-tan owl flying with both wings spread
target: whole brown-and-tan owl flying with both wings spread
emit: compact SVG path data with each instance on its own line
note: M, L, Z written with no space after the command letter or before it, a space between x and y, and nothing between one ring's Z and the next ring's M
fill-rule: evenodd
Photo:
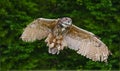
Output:
M93 33L73 25L69 17L38 18L31 22L21 35L21 39L26 42L43 38L46 38L48 52L51 54L59 54L60 50L68 47L93 61L103 62L107 62L111 54L108 47Z

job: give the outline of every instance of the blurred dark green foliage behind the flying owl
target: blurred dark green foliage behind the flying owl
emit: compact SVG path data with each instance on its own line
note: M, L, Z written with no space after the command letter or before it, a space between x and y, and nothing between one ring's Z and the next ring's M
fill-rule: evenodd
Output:
M101 37L112 56L108 64L93 62L75 51L48 53L44 40L19 37L34 19L71 17L73 23ZM119 0L0 0L0 70L118 70L120 69Z

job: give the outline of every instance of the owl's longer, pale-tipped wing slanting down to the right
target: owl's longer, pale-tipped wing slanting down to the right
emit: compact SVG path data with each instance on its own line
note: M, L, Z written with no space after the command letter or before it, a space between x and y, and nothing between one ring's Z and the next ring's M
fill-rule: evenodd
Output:
M68 34L64 36L68 48L93 61L107 62L110 51L93 33L72 25Z

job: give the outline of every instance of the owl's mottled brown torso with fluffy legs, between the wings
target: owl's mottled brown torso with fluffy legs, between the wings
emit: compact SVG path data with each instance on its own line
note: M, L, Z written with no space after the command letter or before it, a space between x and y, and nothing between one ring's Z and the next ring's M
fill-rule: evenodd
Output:
M64 27L61 24L59 21L45 40L47 46L49 46L49 53L59 54L60 50L63 50L67 46L64 36L68 33L70 27Z

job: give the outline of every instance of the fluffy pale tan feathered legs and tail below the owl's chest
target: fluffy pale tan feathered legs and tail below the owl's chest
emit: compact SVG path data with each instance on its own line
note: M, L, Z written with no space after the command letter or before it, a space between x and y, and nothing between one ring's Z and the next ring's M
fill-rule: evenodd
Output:
M63 50L64 47L67 46L62 35L55 37L50 33L45 42L47 42L47 46L49 47L49 53L52 54L59 54L60 50Z

